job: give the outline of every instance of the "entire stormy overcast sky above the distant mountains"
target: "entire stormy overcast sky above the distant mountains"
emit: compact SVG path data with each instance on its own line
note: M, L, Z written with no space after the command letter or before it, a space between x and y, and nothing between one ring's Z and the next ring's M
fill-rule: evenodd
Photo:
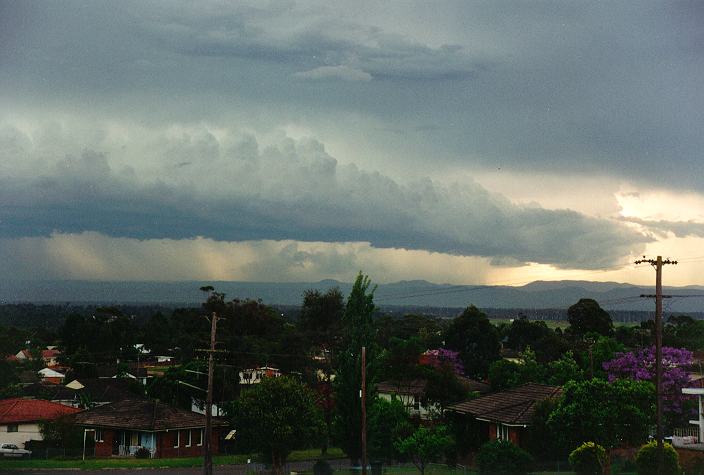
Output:
M704 284L704 3L0 0L0 279Z

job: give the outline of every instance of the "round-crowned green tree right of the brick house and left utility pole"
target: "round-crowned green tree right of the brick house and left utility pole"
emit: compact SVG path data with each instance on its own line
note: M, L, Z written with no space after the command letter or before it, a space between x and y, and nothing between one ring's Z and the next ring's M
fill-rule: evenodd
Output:
M323 422L312 391L295 379L264 378L230 408L243 446L271 457L283 473L288 454L318 442Z

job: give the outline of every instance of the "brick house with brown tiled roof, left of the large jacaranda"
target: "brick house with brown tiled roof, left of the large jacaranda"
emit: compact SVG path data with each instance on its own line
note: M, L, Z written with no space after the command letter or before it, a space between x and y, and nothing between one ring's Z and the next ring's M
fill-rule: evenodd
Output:
M531 424L536 405L546 399L557 398L561 393L562 389L557 386L528 383L464 401L447 410L479 421L487 440L510 440L521 446L522 434Z

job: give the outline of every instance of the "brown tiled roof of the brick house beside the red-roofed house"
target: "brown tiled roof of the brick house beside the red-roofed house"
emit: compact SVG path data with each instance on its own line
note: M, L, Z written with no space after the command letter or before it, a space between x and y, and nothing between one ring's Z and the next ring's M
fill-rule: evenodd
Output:
M122 400L83 411L75 416L78 425L143 431L164 431L205 427L205 416L148 400ZM227 425L213 419L213 427Z

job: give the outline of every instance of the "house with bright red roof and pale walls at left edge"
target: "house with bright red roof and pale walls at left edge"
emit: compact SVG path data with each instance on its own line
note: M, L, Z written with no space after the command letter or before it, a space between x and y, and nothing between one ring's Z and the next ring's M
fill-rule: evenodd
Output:
M42 440L39 423L77 413L79 409L38 399L0 401L0 441L24 447L30 440Z

